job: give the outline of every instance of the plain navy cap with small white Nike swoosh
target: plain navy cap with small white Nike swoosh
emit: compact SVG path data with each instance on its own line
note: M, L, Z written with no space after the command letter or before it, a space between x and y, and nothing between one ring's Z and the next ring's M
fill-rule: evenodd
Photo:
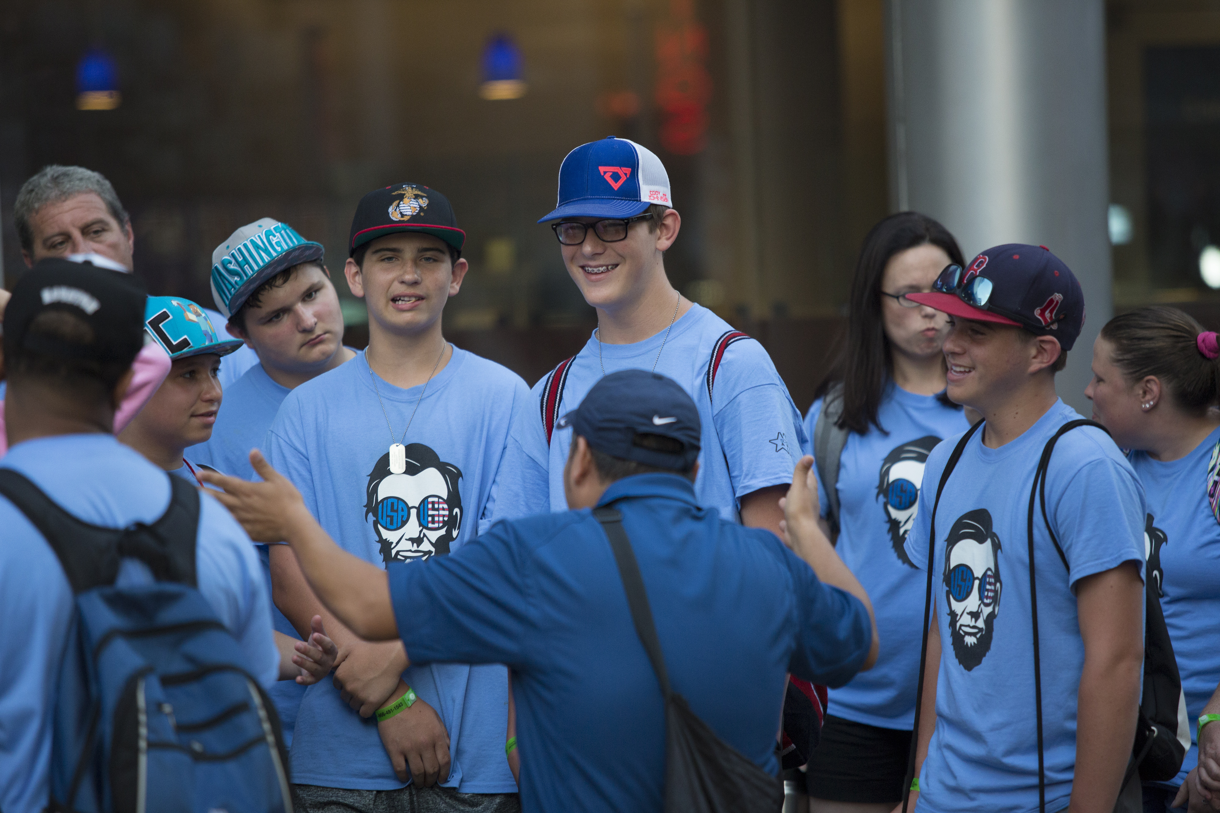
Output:
M572 428L592 449L645 466L687 472L699 458L699 410L677 382L647 369L604 377L555 424ZM678 451L649 449L644 435L678 441Z

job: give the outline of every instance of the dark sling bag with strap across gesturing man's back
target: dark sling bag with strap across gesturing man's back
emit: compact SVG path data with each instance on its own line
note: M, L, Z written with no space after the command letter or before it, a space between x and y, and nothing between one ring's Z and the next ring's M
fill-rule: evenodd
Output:
M780 778L721 740L686 698L670 689L661 641L622 514L601 507L593 516L610 540L636 634L665 697L665 813L777 813L783 807Z

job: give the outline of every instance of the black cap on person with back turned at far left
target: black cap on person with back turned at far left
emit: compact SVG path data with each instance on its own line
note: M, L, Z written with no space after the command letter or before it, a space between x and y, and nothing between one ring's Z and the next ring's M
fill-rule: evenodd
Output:
M59 257L40 260L17 280L4 312L4 352L22 350L128 366L144 346L144 283L132 274ZM66 311L84 319L93 341L79 344L29 335L44 311Z

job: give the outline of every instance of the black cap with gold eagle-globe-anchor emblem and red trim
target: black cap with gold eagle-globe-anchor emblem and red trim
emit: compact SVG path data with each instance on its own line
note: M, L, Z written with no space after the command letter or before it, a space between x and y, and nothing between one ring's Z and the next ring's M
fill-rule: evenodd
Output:
M423 232L458 251L466 243L466 233L458 228L448 197L420 184L392 184L360 199L356 216L351 218L348 256L370 240L395 232Z

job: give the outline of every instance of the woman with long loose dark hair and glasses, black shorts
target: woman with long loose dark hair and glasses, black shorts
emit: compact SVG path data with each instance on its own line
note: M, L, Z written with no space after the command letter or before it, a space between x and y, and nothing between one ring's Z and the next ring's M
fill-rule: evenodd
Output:
M902 802L924 605L924 577L903 544L928 452L969 428L944 397L947 317L906 294L931 290L950 263L964 264L958 241L917 212L892 215L869 232L847 335L805 417L821 456L822 516L874 597L881 639L877 666L830 692L806 773L811 813L889 813Z

